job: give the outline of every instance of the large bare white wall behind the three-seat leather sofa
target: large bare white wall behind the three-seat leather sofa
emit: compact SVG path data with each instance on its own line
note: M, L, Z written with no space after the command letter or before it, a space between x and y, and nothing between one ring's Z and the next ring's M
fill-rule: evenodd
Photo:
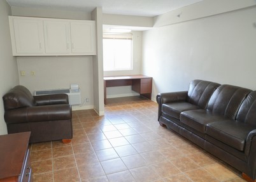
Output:
M152 99L187 90L193 79L256 89L255 17L252 6L145 31L142 70L153 77Z

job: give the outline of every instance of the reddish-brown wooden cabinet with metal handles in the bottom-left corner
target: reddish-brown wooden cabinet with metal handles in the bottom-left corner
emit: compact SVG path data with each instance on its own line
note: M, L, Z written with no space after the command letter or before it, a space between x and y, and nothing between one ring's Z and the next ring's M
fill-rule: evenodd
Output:
M0 182L32 182L30 132L0 136Z

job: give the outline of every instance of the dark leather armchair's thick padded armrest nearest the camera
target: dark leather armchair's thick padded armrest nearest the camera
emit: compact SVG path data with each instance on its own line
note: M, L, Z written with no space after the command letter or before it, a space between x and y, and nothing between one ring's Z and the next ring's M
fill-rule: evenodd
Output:
M4 112L4 120L7 124L68 120L71 118L71 105L68 104L24 107Z

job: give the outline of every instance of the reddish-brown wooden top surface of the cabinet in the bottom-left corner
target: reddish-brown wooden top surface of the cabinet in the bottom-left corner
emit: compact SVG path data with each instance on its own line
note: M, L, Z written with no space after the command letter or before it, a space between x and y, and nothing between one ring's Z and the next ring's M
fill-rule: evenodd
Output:
M0 135L0 179L19 176L30 132Z

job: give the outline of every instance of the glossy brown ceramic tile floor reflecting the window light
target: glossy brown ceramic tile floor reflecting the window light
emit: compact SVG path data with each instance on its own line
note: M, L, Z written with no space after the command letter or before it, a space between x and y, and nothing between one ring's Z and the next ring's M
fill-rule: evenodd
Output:
M109 99L105 115L73 112L73 140L34 143L34 182L244 181L239 172L159 126L157 103Z

